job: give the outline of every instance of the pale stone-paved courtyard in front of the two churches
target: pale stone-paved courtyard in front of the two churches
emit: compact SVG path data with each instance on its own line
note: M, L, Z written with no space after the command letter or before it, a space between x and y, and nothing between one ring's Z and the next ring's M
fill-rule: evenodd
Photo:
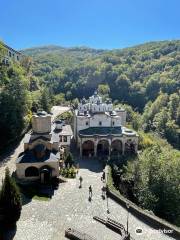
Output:
M14 240L63 240L65 229L74 227L99 240L119 240L119 235L93 220L93 216L107 216L126 225L127 212L119 204L109 199L110 214L107 214L107 202L101 197L102 167L95 160L80 161L80 171L76 179L61 183L50 201L32 200L25 204L21 218L17 223ZM83 177L79 189L79 176ZM92 201L88 200L88 188L92 185ZM136 227L143 229L143 234L135 234ZM172 238L153 233L151 228L134 216L129 216L129 230L134 239L170 240Z

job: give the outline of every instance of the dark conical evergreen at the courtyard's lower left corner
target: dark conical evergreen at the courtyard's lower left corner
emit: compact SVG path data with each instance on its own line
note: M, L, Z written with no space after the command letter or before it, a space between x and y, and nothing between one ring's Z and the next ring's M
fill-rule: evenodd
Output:
M21 214L21 195L19 189L9 170L6 169L5 178L3 180L0 191L0 215L2 215L1 226L9 226L16 223Z

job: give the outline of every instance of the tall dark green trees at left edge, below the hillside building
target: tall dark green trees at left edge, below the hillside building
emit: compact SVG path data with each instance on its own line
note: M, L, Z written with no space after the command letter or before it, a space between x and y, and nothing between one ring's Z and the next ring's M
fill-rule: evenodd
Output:
M29 81L19 65L0 67L0 149L21 135L29 124L25 116L31 108Z

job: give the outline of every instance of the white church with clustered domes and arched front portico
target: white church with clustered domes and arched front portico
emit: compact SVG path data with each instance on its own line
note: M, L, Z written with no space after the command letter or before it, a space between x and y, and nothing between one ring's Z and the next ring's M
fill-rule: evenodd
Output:
M138 134L125 127L126 111L113 109L111 100L94 93L74 114L74 137L80 156L110 156L137 152Z

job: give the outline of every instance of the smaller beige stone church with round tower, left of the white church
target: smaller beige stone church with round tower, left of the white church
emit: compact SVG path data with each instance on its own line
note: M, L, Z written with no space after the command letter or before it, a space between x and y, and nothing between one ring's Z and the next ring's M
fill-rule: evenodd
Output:
M38 112L32 117L32 132L24 139L24 152L16 160L16 176L21 181L49 182L59 176L59 161L72 138L70 125L51 122L51 115Z

